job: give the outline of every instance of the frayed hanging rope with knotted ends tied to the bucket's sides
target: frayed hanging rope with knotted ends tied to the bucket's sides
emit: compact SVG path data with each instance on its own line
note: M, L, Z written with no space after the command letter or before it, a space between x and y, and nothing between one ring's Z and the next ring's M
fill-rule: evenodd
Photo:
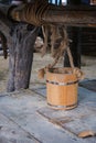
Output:
M66 32L64 26L61 28L61 31L57 31L57 30L58 30L57 26L56 26L56 29L52 28L52 36L51 36L52 42L51 43L52 43L52 53L53 53L52 55L54 56L54 62L39 70L39 78L43 78L44 74L47 70L50 70L51 68L53 68L57 64L58 59L62 56L64 56L64 53L67 52L70 64L71 64L71 67L73 69L73 73L76 75L77 79L81 80L81 79L84 78L84 74L79 68L74 66L73 56L72 56L72 53L71 53L71 50L70 50L70 40L68 40L68 36L67 36L67 32ZM58 32L58 33L56 33L56 32ZM61 40L60 45L58 45L56 52L54 53L55 41L57 38L61 38L61 33L62 33L63 38ZM56 34L57 34L57 36L56 36ZM45 45L47 45L47 44L45 43ZM44 50L44 52L45 52L45 50Z

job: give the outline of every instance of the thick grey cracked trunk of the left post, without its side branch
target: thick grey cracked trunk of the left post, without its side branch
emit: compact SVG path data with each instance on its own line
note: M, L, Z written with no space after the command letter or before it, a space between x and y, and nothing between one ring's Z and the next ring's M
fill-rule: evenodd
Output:
M9 48L8 91L29 88L36 34L36 28L22 23L12 31L13 43Z

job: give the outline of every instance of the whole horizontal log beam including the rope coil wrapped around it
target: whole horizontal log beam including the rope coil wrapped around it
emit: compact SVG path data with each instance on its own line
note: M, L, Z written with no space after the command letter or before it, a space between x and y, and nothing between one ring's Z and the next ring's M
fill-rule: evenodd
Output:
M45 9L44 9L45 8ZM10 12L12 19L35 25L96 26L96 6L57 7L45 1L28 3Z

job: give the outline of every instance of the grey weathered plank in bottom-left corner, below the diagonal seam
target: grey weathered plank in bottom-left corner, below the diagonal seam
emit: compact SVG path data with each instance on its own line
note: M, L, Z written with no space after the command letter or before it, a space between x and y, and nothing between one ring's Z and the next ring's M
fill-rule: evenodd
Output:
M40 143L7 114L0 112L0 143Z

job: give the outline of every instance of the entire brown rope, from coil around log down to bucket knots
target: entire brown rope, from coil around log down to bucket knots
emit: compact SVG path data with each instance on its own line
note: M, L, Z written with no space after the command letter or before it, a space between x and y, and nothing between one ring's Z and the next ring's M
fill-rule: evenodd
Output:
M57 8L57 7L56 7ZM57 23L46 22L46 18L50 18L50 12L55 9L53 4L49 4L46 0L35 0L32 4L26 3L22 6L22 8L17 8L12 11L11 15L14 20L18 21L25 21L36 26L43 26L43 35L44 35L44 46L42 48L42 56L46 53L47 47L47 36L49 36L49 29L51 34L51 53L52 56L55 58L54 62L46 67L40 70L39 76L43 77L44 73L56 65L61 56L64 56L64 52L67 52L71 67L74 67L73 57L70 51L70 40L66 33L64 25L60 25ZM61 9L60 9L61 10ZM57 13L56 13L57 14ZM51 19L51 18L50 18ZM54 22L54 20L53 20ZM76 68L74 70L78 78L82 78L83 75L79 74L81 72ZM81 76L79 76L81 75Z

